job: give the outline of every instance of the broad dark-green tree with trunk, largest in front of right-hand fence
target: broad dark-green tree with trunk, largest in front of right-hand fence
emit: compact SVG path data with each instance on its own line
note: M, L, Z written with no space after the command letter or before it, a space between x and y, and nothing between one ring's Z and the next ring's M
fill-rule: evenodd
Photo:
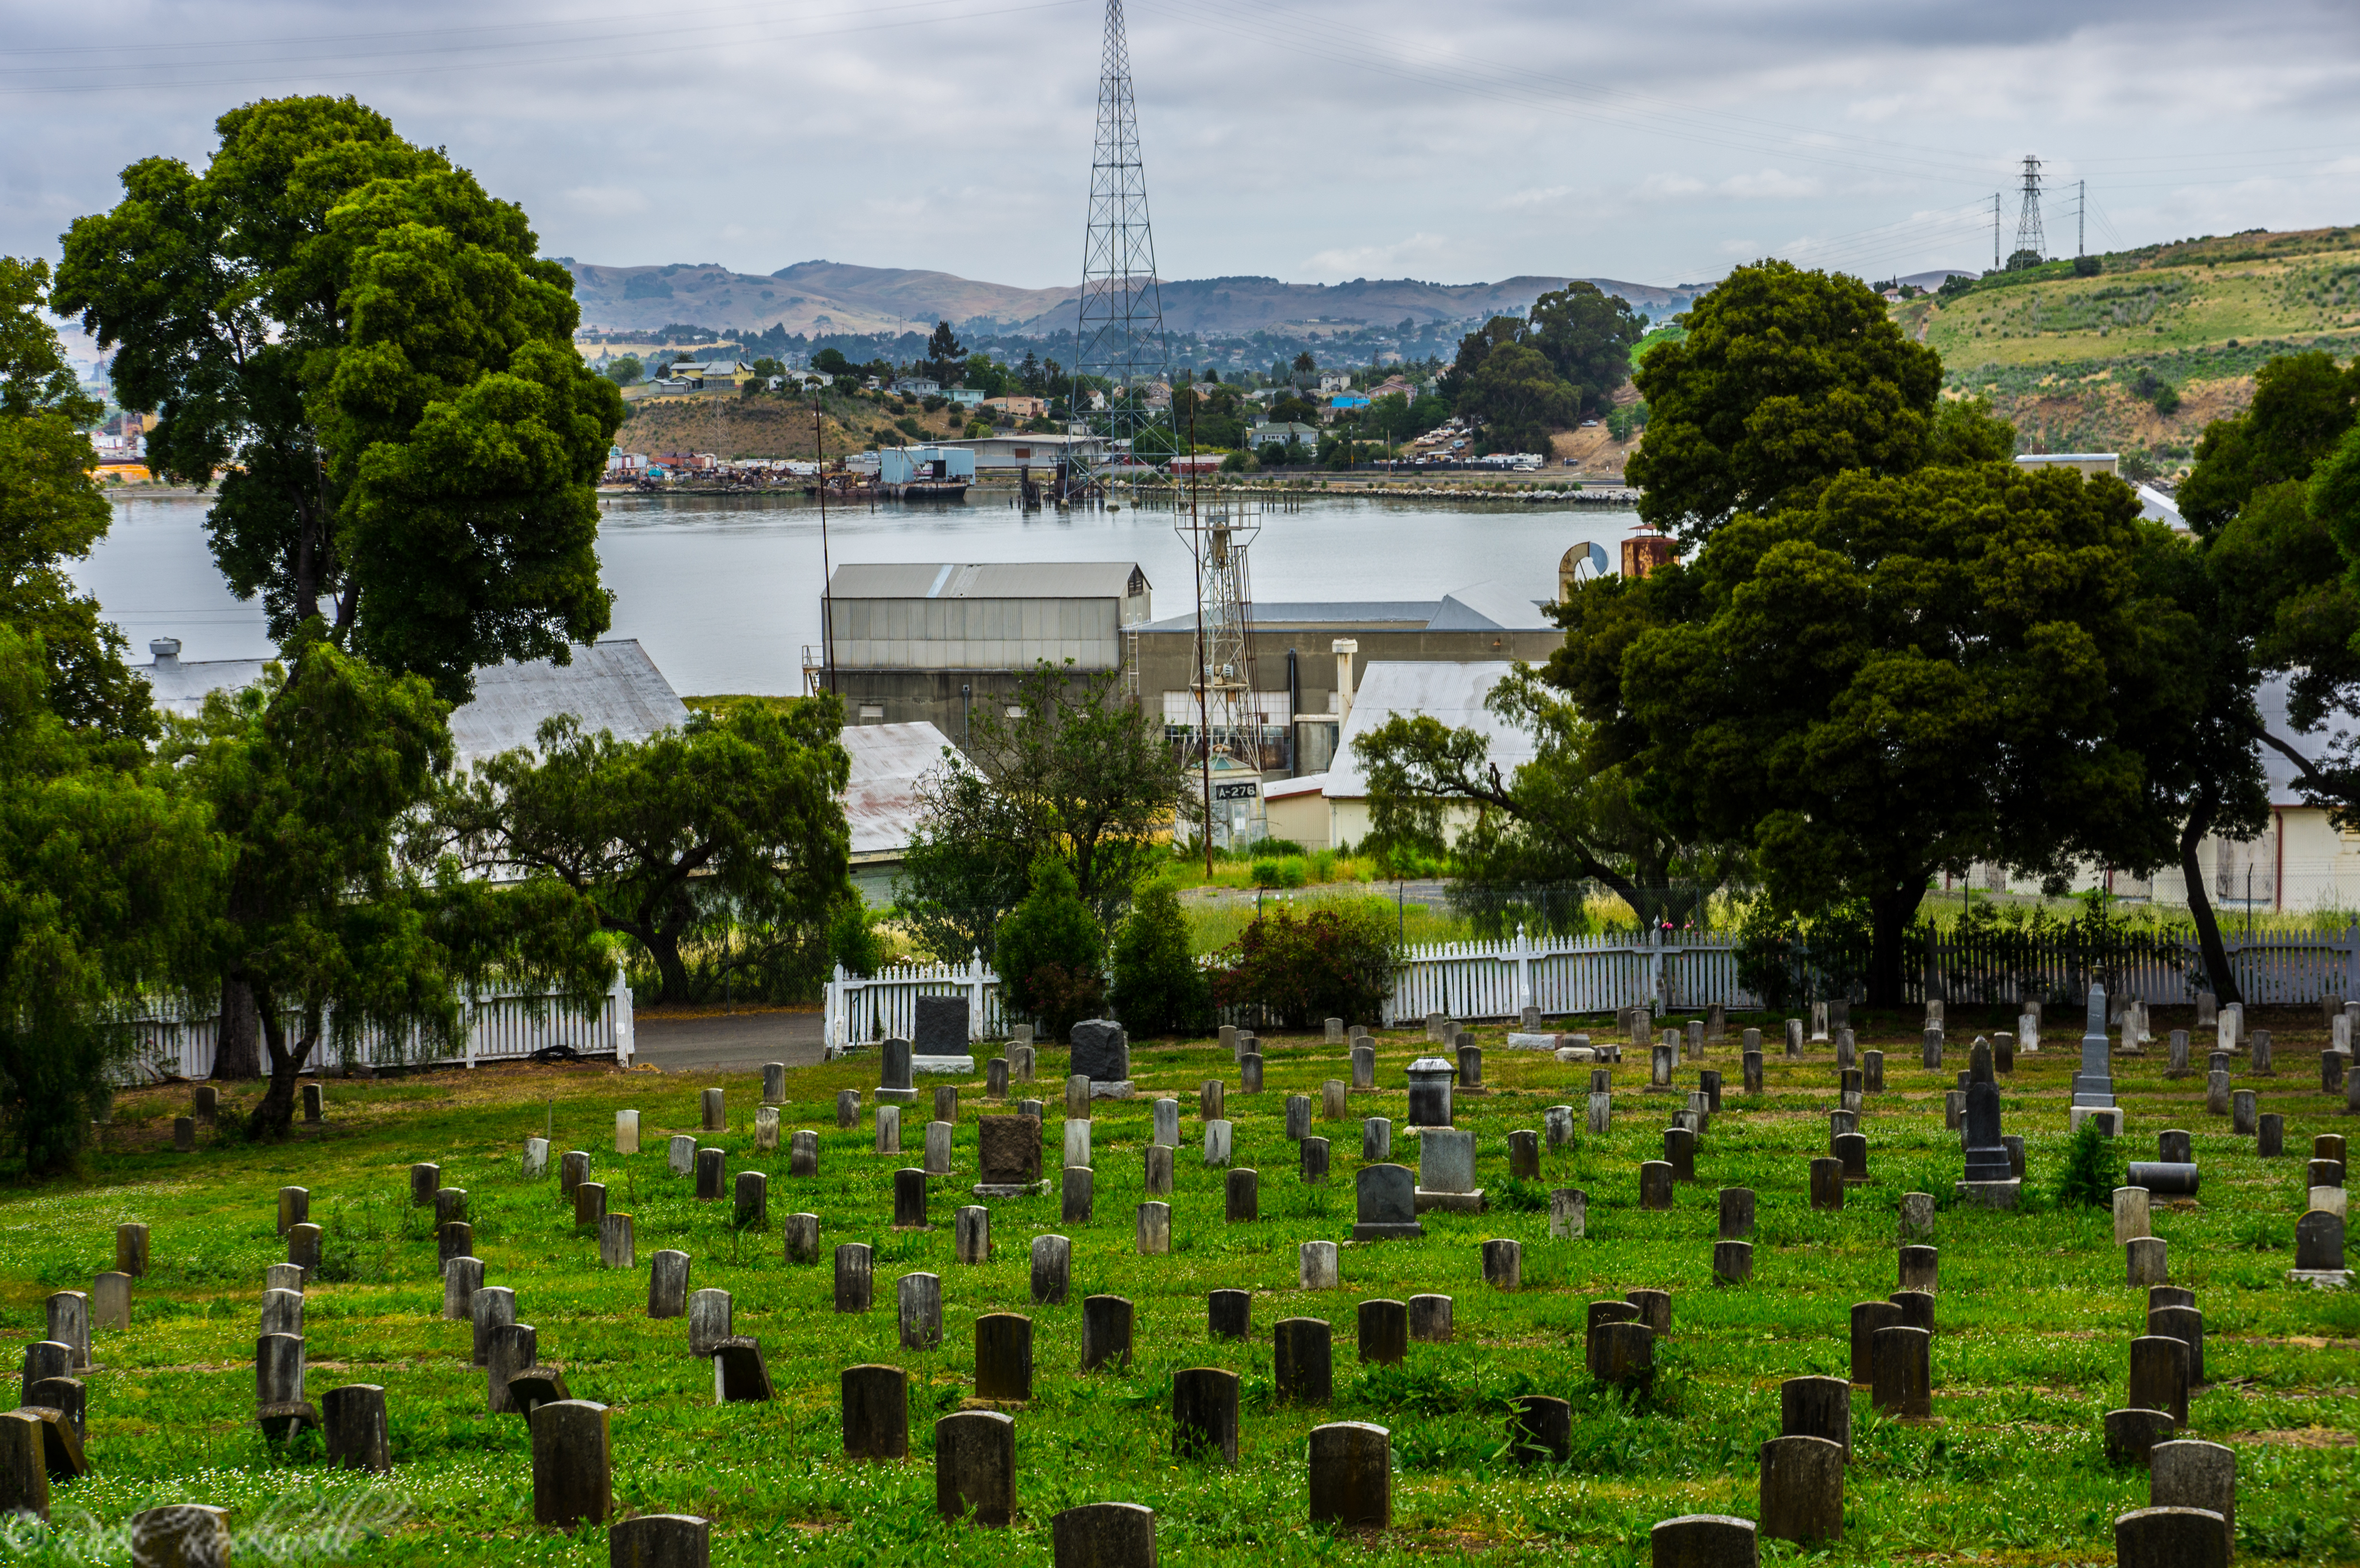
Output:
M2150 527L2070 470L1846 472L1643 593L1584 583L1565 666L1664 822L1746 843L1782 909L1869 904L1890 1004L1935 871L2169 857L2141 741L2202 690L2138 581Z

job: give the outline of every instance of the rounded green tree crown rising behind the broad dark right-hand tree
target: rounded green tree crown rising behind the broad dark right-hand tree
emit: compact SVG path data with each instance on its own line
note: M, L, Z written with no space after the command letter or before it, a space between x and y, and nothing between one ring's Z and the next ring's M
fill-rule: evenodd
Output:
M1638 515L1702 541L1730 517L1810 505L1841 472L1926 463L1942 359L1843 274L1791 262L1737 267L1687 312L1687 335L1633 378L1647 442L1624 472Z

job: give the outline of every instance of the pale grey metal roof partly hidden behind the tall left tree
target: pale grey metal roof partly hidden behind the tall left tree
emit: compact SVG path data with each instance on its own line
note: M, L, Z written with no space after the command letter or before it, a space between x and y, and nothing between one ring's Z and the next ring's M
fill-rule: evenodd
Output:
M236 692L262 680L262 659L196 659L182 664L177 638L149 642L146 675L158 708L196 718L212 692ZM531 746L540 723L571 713L590 734L644 741L658 730L687 723L689 711L656 661L632 638L576 647L573 664L498 664L474 673L474 701L451 713L458 767Z

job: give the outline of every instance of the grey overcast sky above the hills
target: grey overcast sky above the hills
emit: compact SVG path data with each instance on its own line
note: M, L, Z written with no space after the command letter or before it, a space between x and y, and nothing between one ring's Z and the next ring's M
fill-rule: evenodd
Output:
M0 248L352 92L552 255L1076 281L1104 0L0 0ZM1163 276L1867 276L2360 220L2353 0L1130 0Z

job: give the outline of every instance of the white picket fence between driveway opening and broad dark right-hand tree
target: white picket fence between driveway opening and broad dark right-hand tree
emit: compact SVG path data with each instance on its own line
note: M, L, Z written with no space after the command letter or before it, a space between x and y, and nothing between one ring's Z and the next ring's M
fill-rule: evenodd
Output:
M1001 978L982 954L965 963L925 963L828 980L826 1039L835 1048L909 1039L918 997L965 997L972 1039L1003 1039ZM1652 1004L1657 1011L1758 1006L1737 985L1737 937L1645 933L1612 937L1543 937L1517 928L1508 942L1435 942L1402 954L1392 999L1378 1023L1449 1013L1458 1020L1517 1018L1527 1006L1543 1015L1612 1013Z

